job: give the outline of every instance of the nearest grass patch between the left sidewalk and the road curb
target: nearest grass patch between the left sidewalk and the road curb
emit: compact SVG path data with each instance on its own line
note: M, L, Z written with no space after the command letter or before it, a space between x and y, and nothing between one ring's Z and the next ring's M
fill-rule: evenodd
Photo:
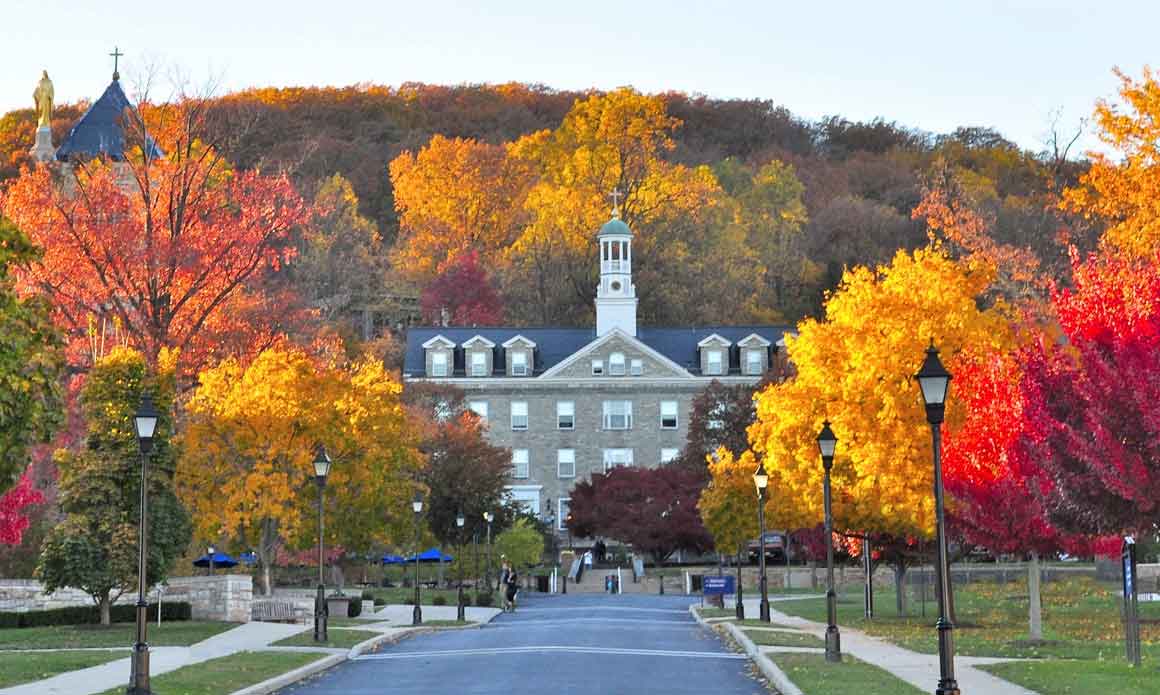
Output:
M150 679L150 685L154 695L222 695L324 657L307 652L241 652L164 673ZM101 695L124 695L124 687L113 688Z

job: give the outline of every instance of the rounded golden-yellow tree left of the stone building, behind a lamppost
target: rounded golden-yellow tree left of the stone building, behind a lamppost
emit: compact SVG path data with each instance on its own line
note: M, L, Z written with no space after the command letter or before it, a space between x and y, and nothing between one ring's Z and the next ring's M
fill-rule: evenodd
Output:
M197 536L242 538L258 551L270 592L280 542L317 536L316 444L334 459L327 482L327 538L362 550L406 526L421 456L380 362L318 364L296 348L271 348L249 364L203 371L187 408L177 469Z

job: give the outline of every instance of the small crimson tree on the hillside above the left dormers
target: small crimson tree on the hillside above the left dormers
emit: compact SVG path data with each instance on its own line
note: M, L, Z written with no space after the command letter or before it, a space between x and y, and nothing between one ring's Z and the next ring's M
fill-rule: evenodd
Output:
M429 324L494 326L503 320L503 303L474 251L443 268L419 302L423 320Z

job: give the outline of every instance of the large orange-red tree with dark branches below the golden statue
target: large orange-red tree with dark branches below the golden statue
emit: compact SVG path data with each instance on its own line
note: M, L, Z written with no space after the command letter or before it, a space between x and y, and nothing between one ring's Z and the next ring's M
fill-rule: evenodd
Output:
M126 109L135 146L124 162L75 161L60 176L24 169L0 197L44 249L20 285L51 298L73 363L128 341L151 361L180 348L196 368L260 348L293 314L260 280L291 256L289 233L307 207L285 176L233 169L203 138L205 108L189 99ZM146 138L165 155L144 157Z

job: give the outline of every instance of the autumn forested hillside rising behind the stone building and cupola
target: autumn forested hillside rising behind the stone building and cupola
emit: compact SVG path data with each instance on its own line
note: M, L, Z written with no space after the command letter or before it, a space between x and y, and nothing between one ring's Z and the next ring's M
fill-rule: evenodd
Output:
M929 133L807 122L774 101L519 84L255 88L208 106L205 137L234 167L288 172L326 203L287 280L334 319L376 305L378 288L418 294L442 276L451 297L429 307L483 282L502 311L480 317L583 323L592 232L614 187L639 234L652 324L815 313L843 267L921 245L928 226L964 253L1035 262L1049 277L1064 276L1065 242L1082 248L1099 232L1059 211L1086 167L1066 158L1066 132L1035 153L988 128ZM80 113L58 109L58 143ZM28 164L32 130L31 109L0 118L0 179Z

